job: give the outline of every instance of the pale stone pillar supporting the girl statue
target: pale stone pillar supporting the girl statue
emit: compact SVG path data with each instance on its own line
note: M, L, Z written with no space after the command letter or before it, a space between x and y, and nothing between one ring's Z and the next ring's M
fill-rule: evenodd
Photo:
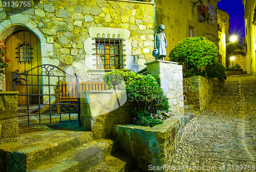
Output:
M145 63L147 73L160 80L161 88L167 95L171 115L184 114L182 66L177 62L155 60Z

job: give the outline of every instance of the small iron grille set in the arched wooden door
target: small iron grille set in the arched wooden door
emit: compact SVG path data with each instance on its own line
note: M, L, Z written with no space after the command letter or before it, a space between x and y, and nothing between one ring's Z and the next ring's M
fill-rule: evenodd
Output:
M18 62L22 63L30 63L32 62L32 49L29 44L25 44L25 42L23 42L23 44L20 44L20 42L18 43L16 49L16 58L18 59Z

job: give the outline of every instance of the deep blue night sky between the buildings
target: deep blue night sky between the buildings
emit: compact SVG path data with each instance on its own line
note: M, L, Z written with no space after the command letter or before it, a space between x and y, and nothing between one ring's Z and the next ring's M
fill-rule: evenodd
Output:
M229 14L229 37L238 35L239 44L242 44L242 38L245 37L243 0L221 0L217 7Z

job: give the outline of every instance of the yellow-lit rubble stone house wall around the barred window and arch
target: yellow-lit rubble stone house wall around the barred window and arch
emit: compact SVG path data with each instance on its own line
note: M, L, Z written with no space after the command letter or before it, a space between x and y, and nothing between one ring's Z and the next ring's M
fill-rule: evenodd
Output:
M96 31L105 37L115 33L125 39L125 69L139 71L145 62L154 60L154 3L136 1L32 1L31 8L3 8L0 12L2 42L15 31L30 30L41 42L42 64L50 63L82 81L98 81L96 69ZM19 27L17 27L19 26ZM53 43L47 40L52 38Z

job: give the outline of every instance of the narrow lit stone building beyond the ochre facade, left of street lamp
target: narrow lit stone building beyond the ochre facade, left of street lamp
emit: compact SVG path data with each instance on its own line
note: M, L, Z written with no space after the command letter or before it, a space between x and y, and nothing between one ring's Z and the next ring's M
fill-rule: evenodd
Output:
M226 67L226 39L228 39L229 31L229 14L224 10L217 10L218 17L218 33L219 33L219 62Z

